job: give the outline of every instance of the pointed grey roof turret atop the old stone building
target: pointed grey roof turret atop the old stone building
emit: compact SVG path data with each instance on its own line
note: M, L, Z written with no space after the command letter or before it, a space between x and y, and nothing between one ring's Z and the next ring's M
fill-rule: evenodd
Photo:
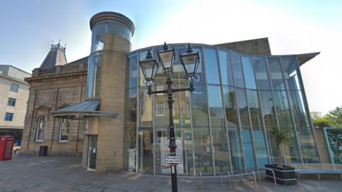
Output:
M61 46L61 41L53 45L52 41L51 49L48 51L48 55L46 55L43 63L41 63L40 68L53 68L56 65L64 65L66 63L66 46Z

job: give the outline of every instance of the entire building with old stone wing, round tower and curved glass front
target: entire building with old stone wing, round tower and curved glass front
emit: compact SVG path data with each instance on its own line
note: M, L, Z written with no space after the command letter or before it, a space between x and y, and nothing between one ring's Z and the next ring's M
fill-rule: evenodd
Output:
M65 50L57 46L46 59L53 64L44 60L27 79L31 90L23 139L26 151L48 145L52 154L82 152L83 167L97 172L168 175L166 97L146 94L139 68L148 50L157 58L162 46L132 51L134 23L115 12L95 14L90 30L89 57L66 64ZM170 48L177 55L174 85L187 87L179 65L187 43ZM271 55L267 38L196 43L192 49L201 58L195 91L177 92L172 114L177 154L182 156L179 174L196 176L202 171L216 176L220 170L236 174L274 163L279 157L268 136L274 128L291 136L281 151L286 164L322 162L300 72L300 66L318 53ZM164 84L160 68L152 89L162 90ZM62 137L68 142L61 142Z

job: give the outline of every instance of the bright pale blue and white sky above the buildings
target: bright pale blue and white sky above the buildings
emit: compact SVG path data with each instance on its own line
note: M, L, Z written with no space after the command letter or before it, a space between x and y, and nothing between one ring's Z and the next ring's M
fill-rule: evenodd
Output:
M133 50L268 37L274 55L321 52L301 74L310 110L326 114L342 105L341 10L341 0L0 0L0 64L31 73L58 40L68 62L85 57L90 17L116 11L135 23Z

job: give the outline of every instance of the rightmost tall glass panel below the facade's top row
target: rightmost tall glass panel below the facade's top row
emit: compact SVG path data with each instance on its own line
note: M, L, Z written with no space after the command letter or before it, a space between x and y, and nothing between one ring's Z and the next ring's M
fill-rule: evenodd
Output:
M294 112L294 122L299 134L299 143L301 145L301 154L303 155L303 161L306 164L318 163L318 151L316 148L316 142L314 134L309 124L309 113L305 110L303 92L290 91L291 96L291 108Z

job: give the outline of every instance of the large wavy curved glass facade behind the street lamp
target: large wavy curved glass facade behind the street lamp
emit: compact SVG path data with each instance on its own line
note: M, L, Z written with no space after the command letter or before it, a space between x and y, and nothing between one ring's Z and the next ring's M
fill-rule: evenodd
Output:
M187 87L180 65L186 44L176 51L175 87ZM208 176L257 170L276 161L270 129L284 129L291 143L283 153L287 164L319 162L313 129L296 55L261 56L195 44L200 64L195 91L175 92L174 114L178 174ZM162 46L152 47L157 51ZM138 61L147 49L128 54L125 104L124 169L169 175L164 156L168 144L168 106L165 94L147 95ZM160 69L153 90L162 90ZM136 151L133 152L133 151Z

